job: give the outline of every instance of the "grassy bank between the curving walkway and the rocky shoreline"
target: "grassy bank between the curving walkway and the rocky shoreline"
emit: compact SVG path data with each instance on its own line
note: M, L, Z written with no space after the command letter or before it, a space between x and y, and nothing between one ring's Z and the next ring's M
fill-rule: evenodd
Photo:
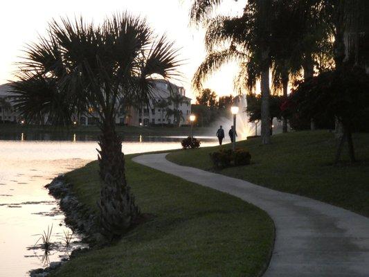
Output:
M114 246L74 258L53 276L258 276L269 260L273 222L231 195L138 165L127 180L153 219ZM97 212L96 162L66 175L80 202Z

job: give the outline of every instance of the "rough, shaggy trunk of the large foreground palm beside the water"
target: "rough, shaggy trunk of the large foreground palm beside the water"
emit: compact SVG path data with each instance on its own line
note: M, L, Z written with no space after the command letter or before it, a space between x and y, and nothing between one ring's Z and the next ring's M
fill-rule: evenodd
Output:
M100 226L107 238L119 237L132 226L139 215L134 196L125 179L125 159L122 141L116 134L114 120L106 120L100 126L99 166L102 188L98 206Z

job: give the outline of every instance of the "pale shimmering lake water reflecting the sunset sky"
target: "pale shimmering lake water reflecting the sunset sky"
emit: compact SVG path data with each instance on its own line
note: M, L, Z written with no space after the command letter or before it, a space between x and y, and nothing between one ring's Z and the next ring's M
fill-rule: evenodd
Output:
M78 141L27 141L26 134L12 134L10 140L0 140L0 276L28 276L30 269L47 267L49 262L67 257L73 248L80 247L80 238L73 235L71 247L39 248L40 233L53 226L51 240L62 242L64 215L57 201L48 195L44 186L63 172L84 166L97 159L96 137ZM180 148L181 136L132 136L125 138L125 154L171 150ZM1 139L1 136L0 136ZM4 137L2 138L4 139ZM34 138L33 138L34 139ZM200 138L201 146L215 145L214 138ZM37 244L36 244L37 242Z

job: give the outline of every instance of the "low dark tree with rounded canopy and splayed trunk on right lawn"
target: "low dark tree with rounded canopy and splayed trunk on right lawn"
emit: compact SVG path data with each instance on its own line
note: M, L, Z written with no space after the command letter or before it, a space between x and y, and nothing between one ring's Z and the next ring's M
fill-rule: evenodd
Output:
M339 162L343 143L347 141L350 161L355 161L352 132L357 121L369 112L369 75L359 66L343 64L301 82L289 97L289 109L296 114L335 117L343 127L335 163ZM362 121L361 121L362 122Z

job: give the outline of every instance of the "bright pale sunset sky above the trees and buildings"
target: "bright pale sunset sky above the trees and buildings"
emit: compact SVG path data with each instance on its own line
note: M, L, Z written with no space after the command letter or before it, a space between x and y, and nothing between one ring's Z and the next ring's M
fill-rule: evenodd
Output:
M245 1L225 0L219 12L242 12ZM79 17L100 23L114 12L132 12L146 17L157 34L166 33L181 48L181 66L184 75L181 85L189 97L194 98L190 80L197 66L205 57L204 30L189 26L190 0L105 0L105 1L6 1L1 3L0 26L0 84L12 79L15 62L22 55L27 43L37 41L37 34L45 33L48 21L58 17ZM211 78L205 87L219 95L233 93L233 77L237 69L229 64Z

